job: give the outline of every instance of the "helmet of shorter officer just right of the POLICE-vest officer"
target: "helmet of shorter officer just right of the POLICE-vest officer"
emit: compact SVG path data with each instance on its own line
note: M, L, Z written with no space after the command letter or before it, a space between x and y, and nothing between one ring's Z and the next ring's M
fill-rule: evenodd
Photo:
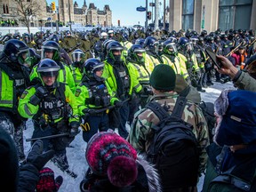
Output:
M104 63L98 59L90 58L84 62L84 73L89 78L96 78L96 71L103 70Z

